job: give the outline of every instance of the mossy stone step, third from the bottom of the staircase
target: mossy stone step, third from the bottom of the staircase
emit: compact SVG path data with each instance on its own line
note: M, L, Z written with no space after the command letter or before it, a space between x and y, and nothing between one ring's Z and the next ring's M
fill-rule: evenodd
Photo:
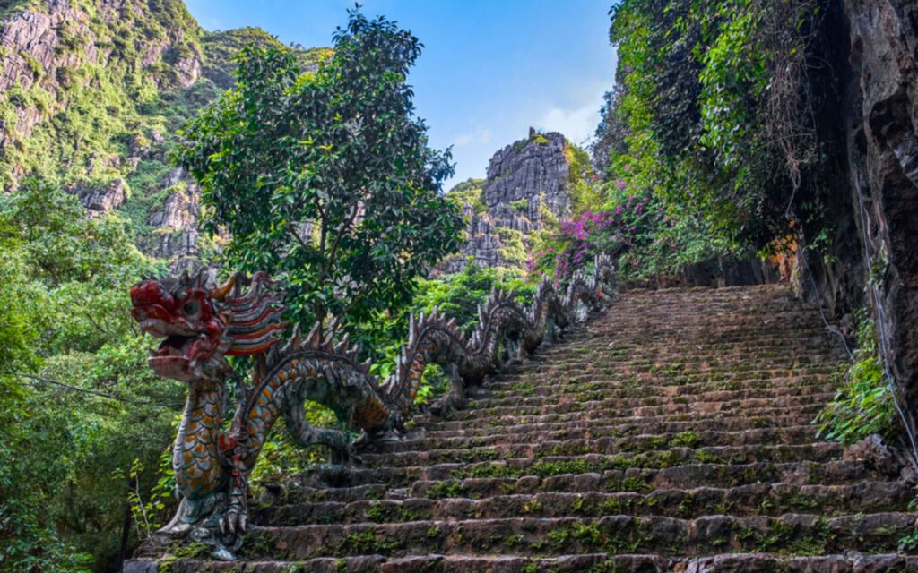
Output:
M433 490L428 490L432 492ZM837 516L858 512L904 512L914 491L901 481L861 481L852 485L756 483L735 488L584 493L571 491L405 500L325 501L275 505L253 513L256 523L400 523L498 519L508 515L538 518L592 517L627 513L695 518L711 508L732 515L819 512Z

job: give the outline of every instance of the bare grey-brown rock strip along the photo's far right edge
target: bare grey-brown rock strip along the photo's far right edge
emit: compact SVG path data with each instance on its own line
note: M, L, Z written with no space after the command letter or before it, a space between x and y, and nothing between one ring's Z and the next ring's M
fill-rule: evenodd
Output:
M918 407L918 5L845 0L853 117L847 143L855 220L875 286L881 346Z

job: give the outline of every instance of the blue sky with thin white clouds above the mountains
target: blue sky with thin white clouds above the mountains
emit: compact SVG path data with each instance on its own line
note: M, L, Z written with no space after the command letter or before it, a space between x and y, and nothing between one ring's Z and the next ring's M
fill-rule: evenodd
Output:
M257 26L285 43L330 46L353 0L185 0L207 30ZM409 75L431 145L453 146L456 175L484 177L495 151L530 126L584 143L599 123L615 57L609 0L364 0L424 44Z

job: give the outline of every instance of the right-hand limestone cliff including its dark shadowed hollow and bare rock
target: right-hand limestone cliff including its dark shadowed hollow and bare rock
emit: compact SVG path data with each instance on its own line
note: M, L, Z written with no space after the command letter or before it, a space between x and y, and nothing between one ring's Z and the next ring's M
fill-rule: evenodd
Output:
M873 309L880 347L909 412L918 408L918 5L827 3L814 72L817 128L831 182L804 191L833 230L800 257L801 291L842 329ZM804 235L815 228L803 224ZM866 295L865 295L866 292Z

